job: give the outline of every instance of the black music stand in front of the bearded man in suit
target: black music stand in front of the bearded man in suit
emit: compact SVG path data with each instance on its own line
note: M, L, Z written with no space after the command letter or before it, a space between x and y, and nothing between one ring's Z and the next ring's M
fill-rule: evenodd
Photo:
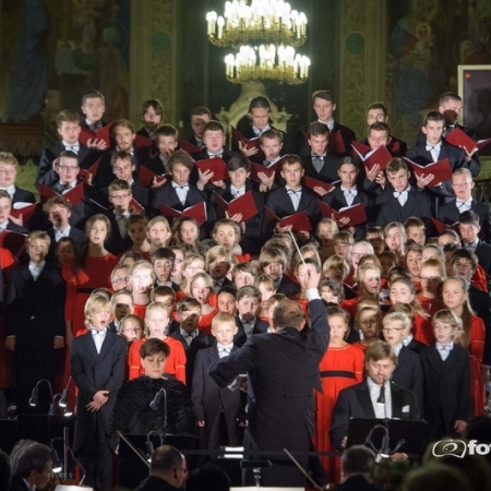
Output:
M397 452L406 454L422 454L427 447L428 423L426 421L406 421L403 419L361 419L349 420L347 447L352 445L366 445L370 431L375 426L388 429L388 448L394 450L402 441ZM371 435L375 448L382 447L382 438L385 432L376 429Z

